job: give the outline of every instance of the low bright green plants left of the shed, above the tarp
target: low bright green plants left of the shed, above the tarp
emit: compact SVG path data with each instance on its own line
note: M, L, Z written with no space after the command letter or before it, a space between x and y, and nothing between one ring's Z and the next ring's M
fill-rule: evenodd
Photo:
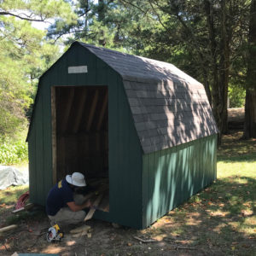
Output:
M28 160L27 143L23 141L10 142L7 140L0 144L0 164L10 165Z

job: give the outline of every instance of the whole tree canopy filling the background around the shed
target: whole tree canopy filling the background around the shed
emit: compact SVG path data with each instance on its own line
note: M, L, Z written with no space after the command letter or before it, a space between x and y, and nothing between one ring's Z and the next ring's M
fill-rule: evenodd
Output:
M244 105L246 89L254 97L254 2L0 0L1 133L26 124L38 77L61 54L58 45L75 40L172 62L205 85L227 132L228 96L231 107ZM32 22L49 22L48 31Z

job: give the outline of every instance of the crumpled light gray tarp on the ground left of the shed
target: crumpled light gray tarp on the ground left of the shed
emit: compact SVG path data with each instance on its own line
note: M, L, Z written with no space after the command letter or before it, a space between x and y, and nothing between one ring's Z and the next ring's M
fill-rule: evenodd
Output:
M6 189L11 185L23 185L28 183L28 176L11 166L0 166L0 189Z

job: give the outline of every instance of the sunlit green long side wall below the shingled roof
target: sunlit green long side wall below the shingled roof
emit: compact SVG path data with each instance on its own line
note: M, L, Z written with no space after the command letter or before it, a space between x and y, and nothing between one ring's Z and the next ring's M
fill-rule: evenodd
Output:
M143 228L216 179L217 135L143 155Z

